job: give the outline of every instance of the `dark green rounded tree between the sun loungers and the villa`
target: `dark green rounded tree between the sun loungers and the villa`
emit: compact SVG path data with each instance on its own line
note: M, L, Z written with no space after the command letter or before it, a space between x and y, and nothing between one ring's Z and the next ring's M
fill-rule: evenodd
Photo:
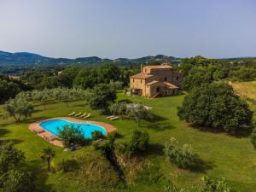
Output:
M87 102L90 108L107 110L110 103L116 99L116 90L111 89L108 84L97 84L90 95L87 96Z

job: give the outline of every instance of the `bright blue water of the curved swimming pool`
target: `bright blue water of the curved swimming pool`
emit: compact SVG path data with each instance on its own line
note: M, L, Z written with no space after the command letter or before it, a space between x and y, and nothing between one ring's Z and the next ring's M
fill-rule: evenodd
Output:
M74 127L79 127L84 134L85 138L91 138L91 133L93 131L101 131L103 135L106 135L106 130L99 125L86 124L86 123L75 123L65 119L53 119L46 120L40 123L40 126L45 130L51 132L55 136L58 136L58 130L63 130L64 125L74 125Z

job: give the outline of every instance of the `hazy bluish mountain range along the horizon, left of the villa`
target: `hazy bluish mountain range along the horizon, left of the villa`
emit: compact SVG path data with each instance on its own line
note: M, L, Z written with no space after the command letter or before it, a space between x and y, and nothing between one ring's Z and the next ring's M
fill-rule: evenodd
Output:
M9 53L0 51L0 67L8 66L56 66L56 65L92 65L92 64L101 64L114 62L119 65L135 65L141 63L152 63L152 62L164 62L169 61L172 63L177 63L180 61L179 58L166 55L156 55L156 56L145 56L137 59L102 59L97 56L90 57L79 57L76 59L68 58L52 58L46 57L38 54L27 53L27 52L18 52L18 53Z

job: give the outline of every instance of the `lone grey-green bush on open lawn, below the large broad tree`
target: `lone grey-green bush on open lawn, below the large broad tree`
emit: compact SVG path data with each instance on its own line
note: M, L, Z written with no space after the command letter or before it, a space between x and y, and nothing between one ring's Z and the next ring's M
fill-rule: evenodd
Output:
M184 144L179 147L177 140L173 137L165 144L164 152L167 160L180 168L195 169L200 163L199 156L195 154L191 146Z

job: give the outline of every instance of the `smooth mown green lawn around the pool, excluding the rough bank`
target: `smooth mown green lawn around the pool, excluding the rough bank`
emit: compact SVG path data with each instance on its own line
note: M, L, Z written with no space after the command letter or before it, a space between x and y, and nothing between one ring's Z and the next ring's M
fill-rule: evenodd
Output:
M49 103L47 109L38 106L37 113L24 123L17 124L14 119L1 119L0 138L15 141L15 146L25 151L26 160L33 169L38 170L38 184L52 186L57 191L74 191L79 188L79 182L73 182L70 174L47 173L46 164L43 163L38 153L45 147L55 148L56 156L54 162L67 158L79 158L80 155L94 153L91 147L84 147L75 152L62 152L61 148L54 147L28 130L28 125L38 119L47 119L58 116L67 116L73 111L84 111L92 114L92 120L99 120L115 125L123 136L119 140L129 139L132 131L141 129L148 131L150 150L148 159L154 164L160 165L160 170L166 177L172 178L175 183L190 186L195 184L199 177L207 174L212 177L226 177L235 189L240 191L255 191L256 189L256 151L248 137L234 137L225 133L212 133L200 131L189 127L177 118L177 106L183 101L183 96L170 96L164 98L147 99L141 96L131 97L119 94L120 99L129 99L132 102L142 102L152 107L152 111L158 116L153 122L143 122L138 127L131 120L110 121L99 112L92 111L84 102L71 102L69 107L65 103ZM189 172L177 169L166 162L162 145L171 137L177 138L180 143L189 143L195 148L207 166L203 172ZM108 172L106 172L108 174ZM126 172L125 172L126 174ZM128 174L128 173L127 173ZM84 178L85 179L85 178ZM83 179L80 181L83 182ZM129 185L124 191L163 191L157 185L134 184ZM44 186L45 187L45 186ZM83 190L77 190L83 191Z

